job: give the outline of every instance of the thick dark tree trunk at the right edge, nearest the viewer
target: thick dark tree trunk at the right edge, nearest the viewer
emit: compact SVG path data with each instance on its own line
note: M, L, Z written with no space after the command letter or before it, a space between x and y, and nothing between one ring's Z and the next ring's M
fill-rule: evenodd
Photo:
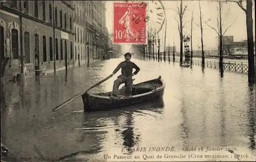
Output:
M247 49L248 49L248 82L255 83L255 64L253 50L253 19L252 1L246 1L246 28L247 28Z

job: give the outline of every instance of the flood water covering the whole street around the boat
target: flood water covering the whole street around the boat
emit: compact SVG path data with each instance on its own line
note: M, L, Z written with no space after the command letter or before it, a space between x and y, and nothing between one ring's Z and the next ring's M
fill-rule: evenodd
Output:
M196 147L194 153L199 155L229 157L233 154L226 149L205 152L206 147L235 147L234 153L241 154L241 160L256 158L255 85L248 86L247 74L224 71L220 78L218 69L206 68L202 72L199 66L190 69L179 63L133 59L141 69L134 76L134 84L161 75L166 84L163 100L84 114L82 99L78 98L52 112L57 105L110 75L121 61L95 62L89 68L84 65L70 68L67 73L62 70L27 77L26 82L1 87L1 141L11 151L6 160L230 160L215 156L189 159L191 152L182 152L183 147ZM91 92L112 91L119 74ZM164 158L164 151L149 151L154 147L174 147L176 152L167 154L182 153L186 157ZM201 147L204 151L199 151ZM131 151L133 148L142 150ZM114 154L140 158L118 159ZM158 159L157 154L163 157ZM104 155L111 158L104 159Z

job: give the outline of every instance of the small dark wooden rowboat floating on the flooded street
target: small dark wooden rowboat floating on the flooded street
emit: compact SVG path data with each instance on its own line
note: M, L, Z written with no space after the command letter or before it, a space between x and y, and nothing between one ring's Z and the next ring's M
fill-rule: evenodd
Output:
M106 93L84 93L82 95L84 112L102 111L106 109L118 109L124 106L160 100L164 94L165 84L159 76L157 79L148 80L133 85L132 96L111 98L112 92ZM119 89L119 95L124 95L125 87Z

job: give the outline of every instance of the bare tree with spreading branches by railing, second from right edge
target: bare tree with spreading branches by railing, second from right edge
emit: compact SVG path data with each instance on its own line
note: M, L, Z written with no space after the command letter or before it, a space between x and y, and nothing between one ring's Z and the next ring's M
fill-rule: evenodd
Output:
M227 17L228 15L228 12L229 10L226 12L225 16L224 16L224 19L222 18L222 5L221 5L221 2L219 2L219 8L217 8L217 11L218 11L218 17L217 17L217 29L215 29L214 27L208 25L211 29L215 30L216 33L218 34L219 36L219 51L220 51L220 62L219 62L219 68L220 68L220 72L221 72L221 77L223 77L223 55L222 55L222 52L223 52L223 49L222 49L222 38L223 36L225 35L225 33L227 32L227 30L234 24L234 22L229 25L225 30L223 30L223 25L225 23L225 18Z

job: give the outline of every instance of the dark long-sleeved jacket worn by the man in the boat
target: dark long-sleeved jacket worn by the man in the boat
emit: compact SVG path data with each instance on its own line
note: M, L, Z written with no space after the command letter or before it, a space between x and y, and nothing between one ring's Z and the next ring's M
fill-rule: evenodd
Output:
M134 74L136 75L139 71L140 68L133 62L127 62L127 61L123 61L121 62L116 69L113 71L113 73L117 73L117 71L122 68L121 73L123 76L132 76L132 72L133 72L133 68L136 69L136 71L134 72Z

